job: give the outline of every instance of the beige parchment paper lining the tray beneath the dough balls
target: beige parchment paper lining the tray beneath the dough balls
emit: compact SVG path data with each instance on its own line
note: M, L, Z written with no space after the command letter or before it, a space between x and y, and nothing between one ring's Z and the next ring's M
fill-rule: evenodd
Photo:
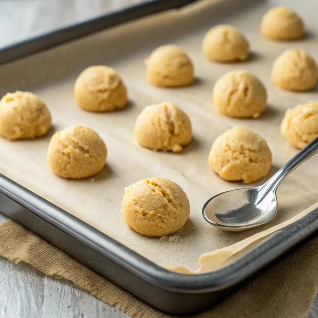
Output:
M311 3L293 7L304 17L308 38L295 42L270 42L259 34L262 15L273 5L285 1L213 1L195 3L139 21L100 32L47 52L0 67L0 93L29 90L46 101L52 112L53 128L33 141L9 142L0 139L0 173L34 191L74 216L87 222L158 265L183 265L198 268L198 258L249 237L294 217L317 202L317 157L299 167L279 187L279 211L269 224L245 232L224 232L206 223L201 209L204 202L220 191L246 187L229 183L213 173L207 157L214 139L226 129L244 125L262 135L273 153L272 175L297 153L280 134L285 110L311 99L309 93L284 92L270 83L273 60L288 48L304 48L318 58L315 12ZM238 27L250 41L251 58L244 63L218 64L207 61L201 53L201 41L216 24ZM194 62L197 80L192 86L162 89L146 81L143 60L159 45L175 43ZM117 69L128 87L129 104L113 113L88 113L76 106L73 84L87 66L106 64ZM268 90L268 108L259 119L226 118L212 105L214 83L234 68L256 74ZM169 100L182 108L193 125L193 141L181 154L154 152L137 145L134 123L142 109ZM52 134L72 125L94 128L108 149L107 166L95 181L65 180L51 172L46 161ZM146 238L128 229L121 213L124 187L138 180L160 176L180 184L186 191L191 213L188 222L174 239ZM268 177L269 177L268 176ZM262 183L262 180L260 183ZM255 183L255 185L260 184ZM170 242L172 241L172 242Z

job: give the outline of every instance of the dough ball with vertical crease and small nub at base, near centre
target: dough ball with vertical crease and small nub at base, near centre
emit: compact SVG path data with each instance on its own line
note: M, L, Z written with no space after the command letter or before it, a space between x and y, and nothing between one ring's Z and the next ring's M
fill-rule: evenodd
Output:
M191 141L191 123L180 108L162 102L145 107L138 115L135 137L142 147L181 152Z

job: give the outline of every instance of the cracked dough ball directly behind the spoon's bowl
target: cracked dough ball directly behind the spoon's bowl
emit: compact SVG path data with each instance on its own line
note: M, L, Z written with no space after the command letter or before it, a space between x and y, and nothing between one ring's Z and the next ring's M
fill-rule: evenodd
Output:
M261 136L248 128L234 127L214 141L209 164L225 180L251 183L266 176L272 153Z

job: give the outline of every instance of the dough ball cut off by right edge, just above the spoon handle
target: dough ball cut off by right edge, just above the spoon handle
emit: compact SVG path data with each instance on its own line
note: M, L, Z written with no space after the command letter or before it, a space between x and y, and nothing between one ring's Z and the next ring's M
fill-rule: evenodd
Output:
M318 101L312 100L287 109L280 129L292 145L299 149L304 148L318 137Z

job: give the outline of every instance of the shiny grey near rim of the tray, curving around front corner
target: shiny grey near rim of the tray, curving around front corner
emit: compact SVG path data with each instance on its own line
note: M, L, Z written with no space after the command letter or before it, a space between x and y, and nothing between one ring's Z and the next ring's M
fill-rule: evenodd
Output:
M218 291L236 285L318 230L317 207L299 220L273 233L232 264L213 272L182 274L158 266L2 174L0 193L148 283L186 294ZM5 214L3 211L2 213Z

